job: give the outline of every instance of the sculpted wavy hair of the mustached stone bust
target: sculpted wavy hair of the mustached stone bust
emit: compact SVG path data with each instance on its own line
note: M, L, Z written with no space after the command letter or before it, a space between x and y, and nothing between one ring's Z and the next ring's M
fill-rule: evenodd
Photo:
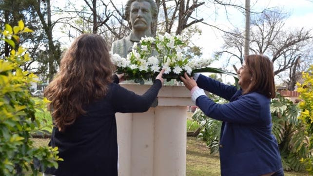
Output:
M154 0L127 0L126 5L125 5L125 20L128 21L129 25L131 25L130 22L130 12L131 12L131 5L133 2L143 2L143 1L147 1L151 4L151 13L152 13L152 21L154 22L157 19L157 14L158 14L158 8L156 5L156 2ZM132 27L132 26L130 26Z

